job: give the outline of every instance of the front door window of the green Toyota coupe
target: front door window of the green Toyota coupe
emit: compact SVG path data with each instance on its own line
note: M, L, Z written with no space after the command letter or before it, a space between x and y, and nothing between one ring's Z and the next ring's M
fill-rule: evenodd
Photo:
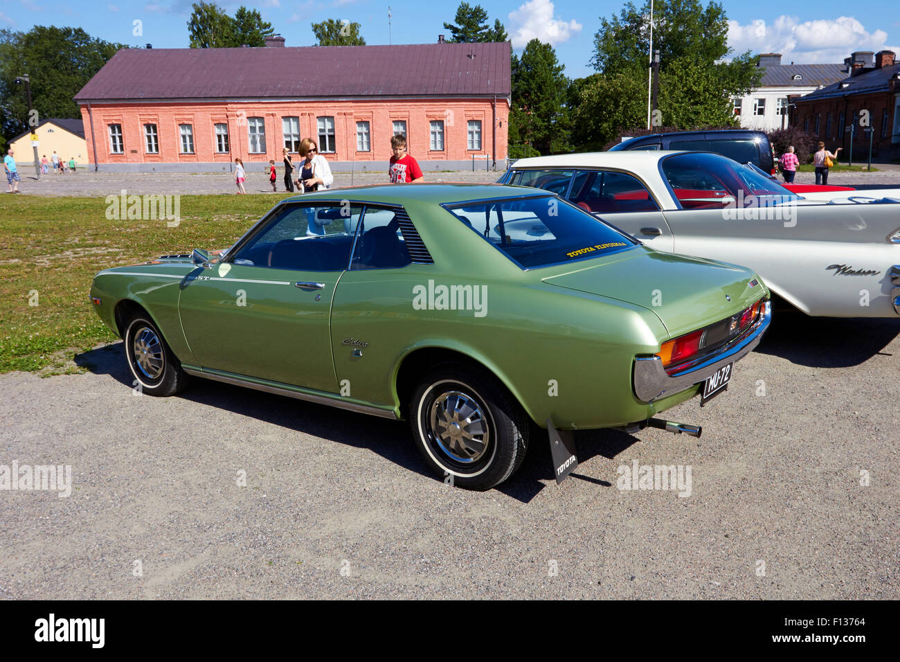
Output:
M295 271L347 268L362 205L289 204L230 261Z

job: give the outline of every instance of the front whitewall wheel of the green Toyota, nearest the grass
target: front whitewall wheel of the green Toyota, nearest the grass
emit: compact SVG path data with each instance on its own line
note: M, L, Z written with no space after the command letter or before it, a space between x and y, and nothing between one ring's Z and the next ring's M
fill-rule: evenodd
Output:
M125 359L135 381L148 395L174 395L187 385L187 373L169 349L163 334L146 313L132 317L125 327Z

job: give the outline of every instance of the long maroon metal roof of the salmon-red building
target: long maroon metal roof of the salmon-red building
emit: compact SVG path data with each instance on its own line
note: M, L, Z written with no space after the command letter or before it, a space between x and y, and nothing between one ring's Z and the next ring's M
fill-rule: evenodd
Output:
M510 94L509 43L122 49L76 102Z

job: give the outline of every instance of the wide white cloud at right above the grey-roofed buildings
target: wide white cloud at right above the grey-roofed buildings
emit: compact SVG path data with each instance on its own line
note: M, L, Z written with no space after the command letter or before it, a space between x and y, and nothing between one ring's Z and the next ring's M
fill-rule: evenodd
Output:
M796 16L782 14L771 23L762 19L744 25L728 22L728 45L735 53L781 53L785 64L841 63L854 50L898 51L886 41L887 32L869 32L851 16L800 23Z

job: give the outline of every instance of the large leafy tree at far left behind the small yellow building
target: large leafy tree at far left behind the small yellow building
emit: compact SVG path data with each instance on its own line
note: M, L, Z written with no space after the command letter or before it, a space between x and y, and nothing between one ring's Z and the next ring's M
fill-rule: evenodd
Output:
M0 133L7 140L29 128L28 98L15 79L28 74L31 103L40 122L81 119L72 100L87 81L128 46L94 39L81 28L36 25L28 32L0 30Z

